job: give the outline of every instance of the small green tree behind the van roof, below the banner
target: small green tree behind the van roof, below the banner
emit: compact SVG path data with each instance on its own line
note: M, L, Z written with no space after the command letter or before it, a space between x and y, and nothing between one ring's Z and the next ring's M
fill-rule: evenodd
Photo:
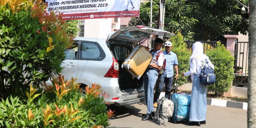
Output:
M67 25L66 33L70 36L71 34L73 37L77 36L78 31L80 30L78 26L79 20L67 20L65 24Z

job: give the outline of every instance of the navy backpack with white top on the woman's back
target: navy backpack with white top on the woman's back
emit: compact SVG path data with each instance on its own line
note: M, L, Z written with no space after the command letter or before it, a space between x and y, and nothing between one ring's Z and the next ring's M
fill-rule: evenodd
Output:
M202 61L199 79L204 85L211 85L215 83L216 75L214 74L213 68L208 64L207 59Z

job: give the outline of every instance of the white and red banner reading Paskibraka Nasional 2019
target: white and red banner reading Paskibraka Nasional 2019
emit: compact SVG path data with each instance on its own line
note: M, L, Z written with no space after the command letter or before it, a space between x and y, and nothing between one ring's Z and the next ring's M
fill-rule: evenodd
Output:
M47 12L63 13L62 18L124 18L139 16L140 0L46 0Z

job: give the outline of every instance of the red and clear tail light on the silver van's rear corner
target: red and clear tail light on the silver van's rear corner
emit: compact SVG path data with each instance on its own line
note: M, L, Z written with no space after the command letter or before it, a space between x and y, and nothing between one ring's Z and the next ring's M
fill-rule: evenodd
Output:
M119 75L119 64L117 59L115 59L114 57L112 57L113 63L110 67L110 70L108 71L108 73L105 74L104 77L111 77L111 78L118 78Z

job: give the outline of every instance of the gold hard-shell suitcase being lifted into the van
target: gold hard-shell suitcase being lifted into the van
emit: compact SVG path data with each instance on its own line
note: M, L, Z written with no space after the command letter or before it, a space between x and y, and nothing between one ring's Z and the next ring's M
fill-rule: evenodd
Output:
M146 48L138 45L125 59L122 67L127 69L133 77L139 79L146 71L151 60L152 55L146 50Z

